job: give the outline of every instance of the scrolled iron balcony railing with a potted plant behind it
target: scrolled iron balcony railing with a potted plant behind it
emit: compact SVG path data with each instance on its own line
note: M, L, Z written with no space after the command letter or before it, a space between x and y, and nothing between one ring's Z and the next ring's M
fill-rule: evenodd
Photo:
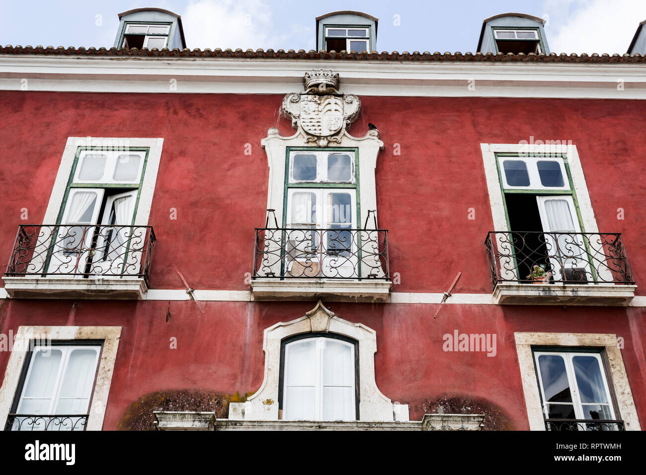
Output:
M501 282L635 283L620 233L491 231L485 246L494 288ZM544 277L530 275L535 266Z

